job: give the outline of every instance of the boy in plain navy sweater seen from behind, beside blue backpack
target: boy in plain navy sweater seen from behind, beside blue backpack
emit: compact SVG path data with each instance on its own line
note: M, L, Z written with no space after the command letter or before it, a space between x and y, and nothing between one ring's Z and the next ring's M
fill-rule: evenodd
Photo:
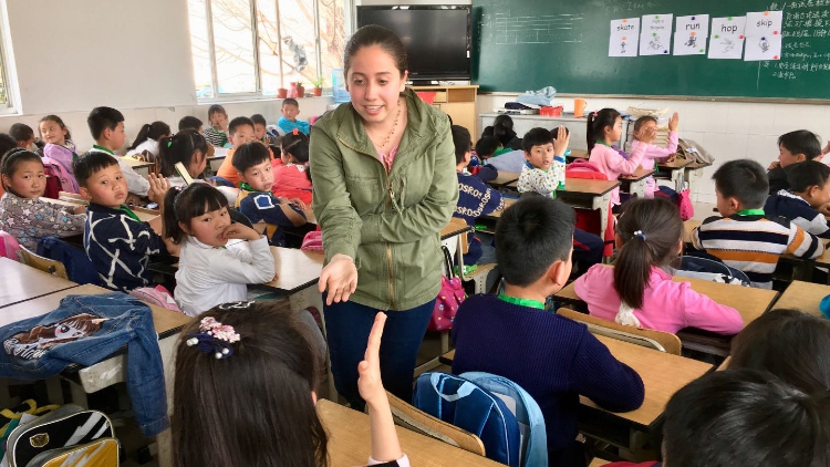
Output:
M584 324L544 311L571 272L573 209L547 197L522 199L496 227L500 295L474 295L453 323L453 373L507 377L539 404L550 467L583 467L577 443L579 396L614 412L643 403L640 375L619 362Z

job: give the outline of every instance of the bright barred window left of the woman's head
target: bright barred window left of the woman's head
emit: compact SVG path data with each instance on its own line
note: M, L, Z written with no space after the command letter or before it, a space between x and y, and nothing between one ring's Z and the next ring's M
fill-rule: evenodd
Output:
M343 68L351 0L188 0L198 98L276 95Z

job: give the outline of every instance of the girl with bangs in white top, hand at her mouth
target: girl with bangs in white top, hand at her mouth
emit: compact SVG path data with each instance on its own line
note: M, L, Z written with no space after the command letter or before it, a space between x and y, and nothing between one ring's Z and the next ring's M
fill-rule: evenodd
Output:
M162 214L164 237L180 246L174 298L185 314L197 316L219 303L245 300L248 283L274 279L268 239L231 222L228 199L218 189L207 184L170 189ZM243 242L229 245L231 239Z

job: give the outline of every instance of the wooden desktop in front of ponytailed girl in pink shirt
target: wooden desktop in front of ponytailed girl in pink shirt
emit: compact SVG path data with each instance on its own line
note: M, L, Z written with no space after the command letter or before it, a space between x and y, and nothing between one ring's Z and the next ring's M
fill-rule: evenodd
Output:
M609 268L611 268L609 266ZM702 293L712 300L732 307L740 313L744 325L764 314L778 297L775 290L755 289L750 287L729 286L726 283L709 282L701 279L674 277L675 282L688 282L692 290ZM557 298L569 303L584 303L577 295L573 282L556 294Z

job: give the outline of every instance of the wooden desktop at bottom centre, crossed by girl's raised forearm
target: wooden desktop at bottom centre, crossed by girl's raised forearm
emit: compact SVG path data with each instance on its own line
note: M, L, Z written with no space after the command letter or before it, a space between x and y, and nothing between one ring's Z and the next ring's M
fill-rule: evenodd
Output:
M331 456L331 465L366 465L371 453L369 415L326 399L318 401L317 413L330 435L329 455ZM401 449L409 457L409 464L413 466L502 466L486 457L468 453L404 427L395 426L395 429L401 440Z

